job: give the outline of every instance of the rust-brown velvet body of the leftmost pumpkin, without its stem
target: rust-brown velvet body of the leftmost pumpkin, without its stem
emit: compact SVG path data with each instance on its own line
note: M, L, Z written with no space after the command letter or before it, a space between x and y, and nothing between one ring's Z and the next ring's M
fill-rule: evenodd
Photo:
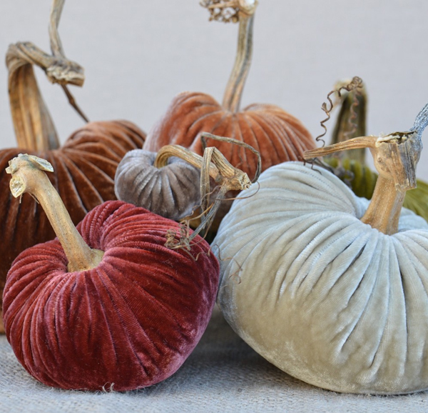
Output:
M61 149L28 153L54 166L55 172L49 174L49 179L71 219L78 224L94 206L116 199L116 167L127 151L141 148L144 138L143 131L131 122L98 121L75 131ZM23 152L25 149L16 148L0 151L0 233L3 241L0 245L0 299L6 274L16 256L34 244L55 237L46 214L31 196L24 196L19 202L11 195L10 175L5 169L9 160Z

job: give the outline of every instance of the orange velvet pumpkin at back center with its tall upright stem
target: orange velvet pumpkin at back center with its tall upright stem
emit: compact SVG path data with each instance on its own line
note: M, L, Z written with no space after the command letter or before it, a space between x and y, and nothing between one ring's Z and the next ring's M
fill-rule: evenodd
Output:
M212 96L189 92L175 96L165 115L148 133L144 149L157 152L166 144L178 144L203 154L201 132L210 132L245 141L260 152L263 169L282 161L302 159L305 150L315 147L302 123L278 106L252 104L240 110L243 86L253 51L253 21L257 0L204 0L211 18L239 21L238 53L232 74L219 104ZM258 159L244 148L214 142L228 161L254 176Z

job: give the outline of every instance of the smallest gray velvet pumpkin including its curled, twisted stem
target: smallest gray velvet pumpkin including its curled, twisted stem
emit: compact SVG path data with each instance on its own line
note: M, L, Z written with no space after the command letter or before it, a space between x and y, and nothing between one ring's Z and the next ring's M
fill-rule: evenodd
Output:
M235 139L206 132L201 134L201 139L205 141L207 138L244 146L252 151L258 157L253 182L257 181L261 169L258 151ZM230 179L232 177L236 178L235 181ZM210 178L217 186L215 194L210 191ZM165 218L185 219L190 224L194 223L197 211L201 212L201 217L209 209L209 222L200 223L208 229L228 191L245 189L244 183L250 184L248 175L230 165L214 146L205 148L204 155L200 156L183 146L166 145L157 154L135 149L123 156L116 170L115 191L122 201L143 206ZM211 206L210 195L215 199Z

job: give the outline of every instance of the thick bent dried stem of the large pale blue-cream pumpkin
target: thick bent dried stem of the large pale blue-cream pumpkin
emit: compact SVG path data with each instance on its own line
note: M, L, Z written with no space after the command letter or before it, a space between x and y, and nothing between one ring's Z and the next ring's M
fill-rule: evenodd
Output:
M395 234L405 193L416 188L416 165L422 150L419 131L394 132L380 137L362 136L307 151L304 157L312 159L335 151L367 147L372 152L379 178L361 221L384 234Z

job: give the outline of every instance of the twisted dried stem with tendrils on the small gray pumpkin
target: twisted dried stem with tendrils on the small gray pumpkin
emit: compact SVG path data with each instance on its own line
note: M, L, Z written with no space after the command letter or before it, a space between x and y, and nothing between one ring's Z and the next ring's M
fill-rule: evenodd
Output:
M203 134L203 137L205 139L220 138L218 140L229 141L232 144L239 143L241 146L245 147L248 146L248 144L243 144L243 142L236 141L235 139L223 138L212 134ZM258 151L255 151L253 148L251 148L251 150L258 155L260 162L260 154L258 154ZM248 189L252 182L245 172L232 166L225 156L213 146L205 147L203 156L195 154L189 149L179 145L163 146L163 148L158 151L154 166L157 168L166 166L170 156L177 156L201 170L200 206L203 211L202 214L200 214L201 223L193 233L190 234L189 223L191 219L190 217L185 218L182 222L183 227L180 227L180 233L177 234L175 230L171 230L171 232L168 233L167 242L165 243L166 247L190 250L191 242L200 232L205 230L205 235L207 234L208 229L213 223L215 214L220 207L220 203L225 199L226 194L229 191L243 191L244 189ZM258 177L258 174L259 172L256 174L256 177ZM212 204L210 204L210 178L212 178L215 184L220 188Z

